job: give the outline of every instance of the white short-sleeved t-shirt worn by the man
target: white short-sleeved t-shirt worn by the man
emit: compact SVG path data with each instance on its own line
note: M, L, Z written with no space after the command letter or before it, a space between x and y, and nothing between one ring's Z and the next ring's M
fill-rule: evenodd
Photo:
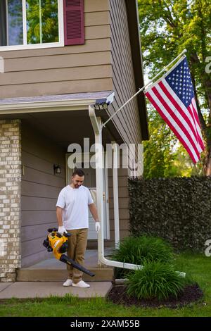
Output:
M88 205L93 204L89 189L81 185L73 189L64 187L58 195L56 206L63 208L63 225L66 230L87 229L89 227Z

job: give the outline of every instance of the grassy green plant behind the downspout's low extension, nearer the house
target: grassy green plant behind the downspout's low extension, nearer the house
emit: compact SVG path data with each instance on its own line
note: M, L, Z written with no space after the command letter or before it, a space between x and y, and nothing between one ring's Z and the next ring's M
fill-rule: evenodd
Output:
M173 260L173 249L165 240L158 237L141 236L125 237L115 249L112 260L124 263L142 265L143 261L162 261L170 263ZM129 270L115 268L115 278L125 277Z

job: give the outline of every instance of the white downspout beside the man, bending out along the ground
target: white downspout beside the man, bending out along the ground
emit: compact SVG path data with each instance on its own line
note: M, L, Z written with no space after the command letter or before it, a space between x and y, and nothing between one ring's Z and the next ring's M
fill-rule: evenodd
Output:
M95 144L96 144L96 200L98 207L98 216L101 221L101 230L98 232L98 264L106 264L106 266L125 268L125 269L142 269L143 266L124 263L120 261L108 260L104 256L104 213L103 213L103 144L102 144L102 122L100 117L96 117L94 105L89 105L89 117L91 120L92 127L94 129ZM177 271L181 277L185 277L185 273Z

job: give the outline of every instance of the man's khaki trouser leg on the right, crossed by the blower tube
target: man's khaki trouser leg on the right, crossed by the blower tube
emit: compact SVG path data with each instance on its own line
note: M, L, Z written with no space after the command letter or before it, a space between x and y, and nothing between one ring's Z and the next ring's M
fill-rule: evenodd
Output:
M84 266L84 254L87 249L87 235L88 229L78 229L77 230L77 245L75 249L75 262ZM77 283L82 280L82 271L73 269L72 282Z

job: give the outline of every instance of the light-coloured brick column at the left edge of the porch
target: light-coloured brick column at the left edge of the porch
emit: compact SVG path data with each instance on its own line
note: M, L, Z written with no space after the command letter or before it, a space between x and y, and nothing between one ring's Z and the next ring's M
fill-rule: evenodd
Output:
M20 268L20 120L0 120L0 282Z

